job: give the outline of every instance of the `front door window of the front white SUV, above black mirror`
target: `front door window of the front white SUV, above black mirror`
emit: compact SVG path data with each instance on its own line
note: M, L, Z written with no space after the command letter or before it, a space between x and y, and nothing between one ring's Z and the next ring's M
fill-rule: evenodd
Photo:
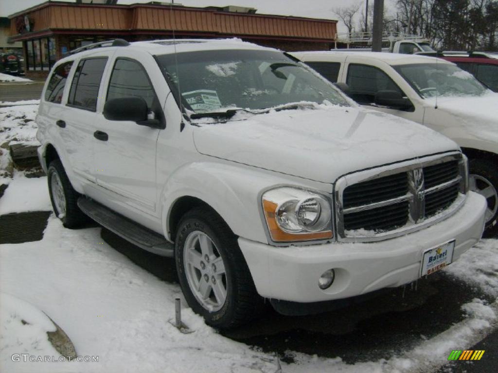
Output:
M107 100L122 97L142 97L149 108L155 94L143 67L136 61L118 59L114 65Z

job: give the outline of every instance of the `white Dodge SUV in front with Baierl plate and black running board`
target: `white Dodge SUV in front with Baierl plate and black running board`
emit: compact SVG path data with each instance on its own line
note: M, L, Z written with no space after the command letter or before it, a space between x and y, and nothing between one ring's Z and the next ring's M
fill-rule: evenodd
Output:
M192 309L247 322L417 280L483 232L448 138L238 40L123 40L53 68L37 116L55 213L174 257ZM87 47L87 48L91 48Z

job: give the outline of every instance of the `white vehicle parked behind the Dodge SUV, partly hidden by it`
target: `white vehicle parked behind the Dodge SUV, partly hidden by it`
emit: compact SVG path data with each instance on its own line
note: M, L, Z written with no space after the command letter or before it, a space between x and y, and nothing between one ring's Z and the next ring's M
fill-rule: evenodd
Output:
M498 94L454 64L375 52L292 53L366 108L432 128L461 146L470 187L488 201L486 235L498 234Z

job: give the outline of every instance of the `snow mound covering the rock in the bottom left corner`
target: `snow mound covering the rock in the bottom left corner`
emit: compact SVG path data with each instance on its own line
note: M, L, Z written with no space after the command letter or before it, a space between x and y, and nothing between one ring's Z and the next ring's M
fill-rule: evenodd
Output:
M32 304L10 294L0 293L0 354L29 354L58 356L47 338L55 325Z

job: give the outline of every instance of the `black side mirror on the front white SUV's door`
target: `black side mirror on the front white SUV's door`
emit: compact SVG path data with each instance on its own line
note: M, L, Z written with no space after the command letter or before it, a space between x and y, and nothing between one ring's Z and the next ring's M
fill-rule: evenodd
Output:
M147 120L147 103L142 97L113 98L104 105L104 117L109 120Z

